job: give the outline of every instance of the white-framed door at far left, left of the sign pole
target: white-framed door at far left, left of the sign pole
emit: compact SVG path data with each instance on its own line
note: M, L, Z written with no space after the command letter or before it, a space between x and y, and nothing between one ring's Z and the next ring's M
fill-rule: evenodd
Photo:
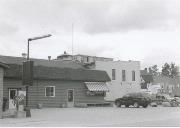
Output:
M16 108L14 97L17 96L17 89L9 89L9 109Z

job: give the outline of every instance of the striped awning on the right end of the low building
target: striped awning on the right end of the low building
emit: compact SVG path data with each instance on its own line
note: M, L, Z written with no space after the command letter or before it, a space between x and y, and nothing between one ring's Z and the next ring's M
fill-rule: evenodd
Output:
M85 82L85 84L89 91L109 91L105 82Z

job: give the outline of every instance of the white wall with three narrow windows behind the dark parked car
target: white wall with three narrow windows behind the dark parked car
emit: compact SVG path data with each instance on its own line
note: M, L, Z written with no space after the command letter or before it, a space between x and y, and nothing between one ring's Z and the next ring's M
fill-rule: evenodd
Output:
M111 78L108 82L110 92L106 100L115 100L129 92L140 92L140 62L139 61L96 61L95 69L104 70ZM112 69L116 70L116 79L112 80ZM122 81L122 70L126 70L126 81ZM135 71L135 81L132 81L132 71Z

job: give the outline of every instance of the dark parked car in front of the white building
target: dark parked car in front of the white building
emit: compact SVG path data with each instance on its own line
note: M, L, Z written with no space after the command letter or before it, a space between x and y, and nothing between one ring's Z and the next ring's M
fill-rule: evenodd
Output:
M151 99L145 93L128 93L122 98L116 99L115 105L117 107L121 107L121 105L125 105L125 107L133 105L136 108L139 106L146 108L150 102Z

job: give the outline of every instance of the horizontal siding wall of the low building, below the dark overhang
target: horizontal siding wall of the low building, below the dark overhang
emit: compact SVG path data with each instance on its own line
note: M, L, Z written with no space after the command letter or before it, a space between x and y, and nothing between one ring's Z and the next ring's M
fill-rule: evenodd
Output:
M55 86L55 97L45 97L45 87ZM21 80L4 79L4 96L9 98L9 88L21 88L25 90ZM103 96L87 96L87 88L81 81L60 80L34 80L33 86L29 87L29 106L36 108L37 104L43 107L60 107L67 103L67 90L74 90L74 103L102 103Z

